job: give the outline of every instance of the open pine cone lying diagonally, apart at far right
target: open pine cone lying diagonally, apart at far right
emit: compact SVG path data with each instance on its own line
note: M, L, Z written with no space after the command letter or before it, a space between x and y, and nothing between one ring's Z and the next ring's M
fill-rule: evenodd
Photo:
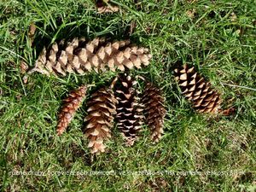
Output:
M194 67L185 65L183 69L175 69L174 72L183 95L193 102L197 112L218 113L221 103L218 92L212 90L211 84L196 73Z

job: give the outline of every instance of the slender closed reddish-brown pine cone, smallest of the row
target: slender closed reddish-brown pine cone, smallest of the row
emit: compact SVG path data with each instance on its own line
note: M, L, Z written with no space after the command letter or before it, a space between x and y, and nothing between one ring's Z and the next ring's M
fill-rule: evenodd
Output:
M61 108L61 113L59 113L59 120L57 125L57 134L59 136L67 129L68 124L73 119L74 113L82 104L86 90L86 86L82 85L79 87L79 89L73 90L64 100L65 103Z

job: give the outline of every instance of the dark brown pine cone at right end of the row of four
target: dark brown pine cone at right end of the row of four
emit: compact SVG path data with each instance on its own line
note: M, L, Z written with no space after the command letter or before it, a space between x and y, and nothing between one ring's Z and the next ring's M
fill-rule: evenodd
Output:
M155 143L159 142L162 133L164 133L163 126L166 116L164 101L165 99L161 96L160 90L154 84L148 83L143 92L142 102L145 106L146 124L151 128L151 139Z

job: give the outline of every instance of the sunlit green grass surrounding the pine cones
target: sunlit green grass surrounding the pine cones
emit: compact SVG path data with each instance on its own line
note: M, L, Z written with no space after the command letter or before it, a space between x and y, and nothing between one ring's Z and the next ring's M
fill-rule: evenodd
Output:
M255 1L143 0L141 10L132 1L115 2L121 11L113 15L97 15L89 0L0 3L0 189L255 191ZM193 9L190 18L186 12ZM231 20L232 13L236 20ZM137 23L131 40L154 55L148 67L132 73L148 76L163 90L166 134L152 144L145 126L141 140L126 148L115 128L108 152L92 160L81 131L86 106L62 137L55 134L56 116L69 90L83 83L108 84L115 73L59 79L33 73L24 84L20 61L32 67L42 46L56 39L129 38L131 21ZM32 22L37 32L31 47ZM195 66L222 94L224 106L235 107L236 113L230 117L195 113L173 79L172 69L181 62ZM139 174L145 170L155 174ZM30 171L53 174L12 175ZM58 176L58 172L90 171L98 175ZM116 174L107 174L111 171ZM201 174L183 174L189 171Z

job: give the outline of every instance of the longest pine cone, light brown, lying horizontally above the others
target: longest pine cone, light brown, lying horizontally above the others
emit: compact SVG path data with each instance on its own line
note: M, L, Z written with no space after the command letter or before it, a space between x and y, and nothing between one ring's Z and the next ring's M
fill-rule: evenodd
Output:
M94 38L85 41L84 38L74 38L72 42L61 41L52 44L49 49L43 49L36 61L36 66L30 73L61 74L80 73L91 71L106 71L108 68L115 71L118 68L140 68L147 66L152 56L148 49L137 48L130 44L130 40L106 42L105 38Z

